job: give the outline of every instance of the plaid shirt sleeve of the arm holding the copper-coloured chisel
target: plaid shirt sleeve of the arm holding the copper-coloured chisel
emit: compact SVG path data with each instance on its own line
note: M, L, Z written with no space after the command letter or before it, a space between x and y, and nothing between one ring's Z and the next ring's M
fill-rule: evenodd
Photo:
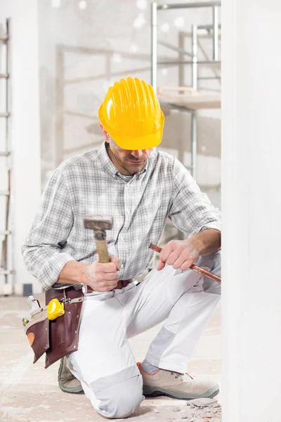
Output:
M221 231L221 213L211 205L206 193L200 191L188 170L174 161L174 198L169 218L186 237L194 236L205 229Z

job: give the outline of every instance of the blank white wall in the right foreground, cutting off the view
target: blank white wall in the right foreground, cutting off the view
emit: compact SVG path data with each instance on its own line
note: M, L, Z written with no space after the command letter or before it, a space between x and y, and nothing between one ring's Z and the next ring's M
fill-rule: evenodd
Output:
M280 1L222 20L223 422L280 422Z

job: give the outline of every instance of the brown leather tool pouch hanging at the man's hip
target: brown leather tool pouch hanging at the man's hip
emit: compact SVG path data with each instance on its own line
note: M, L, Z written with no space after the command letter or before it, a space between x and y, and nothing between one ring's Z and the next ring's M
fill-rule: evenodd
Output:
M61 290L51 288L46 291L45 298L46 305L54 298L63 300L65 314L51 321L45 306L33 313L31 321L25 327L25 333L34 351L33 363L45 352L45 368L48 368L62 357L78 350L84 293L72 287Z

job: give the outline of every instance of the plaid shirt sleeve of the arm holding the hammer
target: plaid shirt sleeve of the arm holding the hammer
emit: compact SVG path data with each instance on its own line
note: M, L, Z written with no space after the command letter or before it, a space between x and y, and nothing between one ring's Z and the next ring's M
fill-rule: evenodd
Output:
M47 290L58 280L65 264L73 260L63 252L73 226L70 195L63 173L55 170L41 197L39 210L22 245L27 270Z

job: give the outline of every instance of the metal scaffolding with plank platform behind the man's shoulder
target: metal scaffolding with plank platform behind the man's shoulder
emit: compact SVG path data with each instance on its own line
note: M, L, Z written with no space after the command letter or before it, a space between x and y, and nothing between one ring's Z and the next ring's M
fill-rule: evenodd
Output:
M200 97L200 92L197 91L197 85L199 79L220 79L220 77L198 77L198 66L200 65L220 65L221 62L218 59L218 39L219 30L221 25L218 23L218 8L221 6L221 1L206 1L200 3L186 3L186 4L157 4L153 2L151 4L151 84L155 92L157 92L159 101L163 106L170 106L177 110L182 110L191 114L191 165L188 167L193 177L196 178L196 157L197 157L197 110L204 108L220 108L221 99L207 98L206 96ZM212 24L211 25L192 25L192 46L191 51L185 51L185 49L174 46L164 41L157 39L157 11L167 11L171 9L180 8L211 8L212 11ZM197 49L198 49L198 30L205 30L212 41L212 58L211 60L198 60ZM188 56L189 60L164 60L157 61L157 44L161 44L168 49L178 51L181 56ZM160 91L157 87L157 65L191 65L192 75L192 87L190 87L190 95L185 96L185 91L188 91L188 87L174 87L174 91L178 91L178 95L171 98L171 95L167 95L166 98L160 95ZM162 89L163 91L164 89ZM171 90L167 88L166 90ZM193 90L193 91L192 91ZM195 94L195 95L192 95ZM196 101L195 101L196 100Z

